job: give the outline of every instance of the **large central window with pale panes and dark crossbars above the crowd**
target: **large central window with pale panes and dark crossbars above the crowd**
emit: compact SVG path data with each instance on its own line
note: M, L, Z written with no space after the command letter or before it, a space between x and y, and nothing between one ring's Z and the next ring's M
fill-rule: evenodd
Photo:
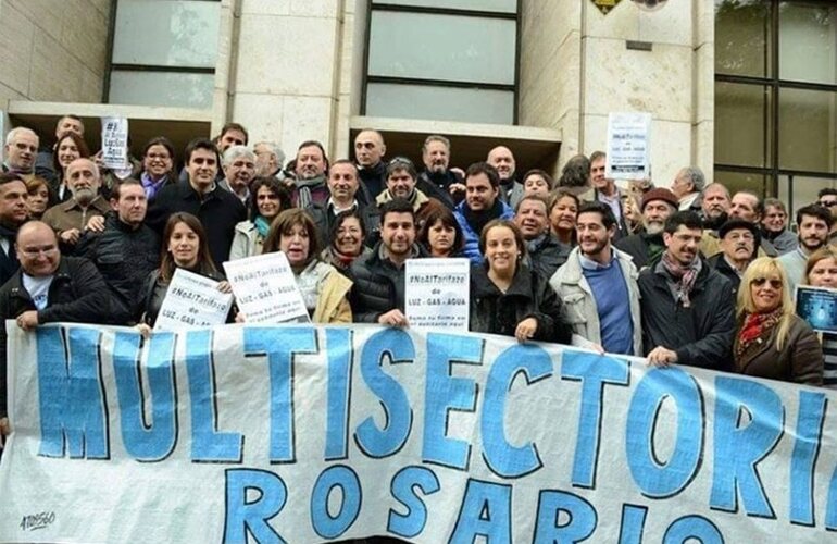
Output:
M373 0L363 114L514 124L517 0Z

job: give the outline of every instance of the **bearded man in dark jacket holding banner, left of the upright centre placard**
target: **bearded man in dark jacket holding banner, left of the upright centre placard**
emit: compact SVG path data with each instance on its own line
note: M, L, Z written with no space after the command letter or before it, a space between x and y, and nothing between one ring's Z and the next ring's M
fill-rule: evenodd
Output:
M349 269L355 322L407 326L404 262L413 257L421 257L413 207L403 199L390 200L380 209L380 242Z

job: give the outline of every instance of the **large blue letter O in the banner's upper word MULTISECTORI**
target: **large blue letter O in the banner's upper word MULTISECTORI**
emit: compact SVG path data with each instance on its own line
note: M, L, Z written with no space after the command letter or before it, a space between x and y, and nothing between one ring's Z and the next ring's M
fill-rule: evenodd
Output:
M674 450L664 461L654 452L654 433L667 398L677 408L677 434ZM630 475L644 495L665 498L686 489L703 455L703 398L695 379L677 367L650 370L630 399L625 437Z

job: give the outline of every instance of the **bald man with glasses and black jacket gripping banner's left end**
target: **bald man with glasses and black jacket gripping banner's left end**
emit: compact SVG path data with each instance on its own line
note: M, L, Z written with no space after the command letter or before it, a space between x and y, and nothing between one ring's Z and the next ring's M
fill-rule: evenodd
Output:
M39 324L71 321L107 323L110 297L99 271L87 259L62 257L49 225L30 221L17 233L21 270L0 288L0 434L7 434L5 320L30 331Z

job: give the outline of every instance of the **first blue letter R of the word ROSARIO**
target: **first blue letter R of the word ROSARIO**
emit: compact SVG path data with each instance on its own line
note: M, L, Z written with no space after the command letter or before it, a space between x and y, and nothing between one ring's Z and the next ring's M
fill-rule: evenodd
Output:
M224 543L247 544L248 534L261 544L285 544L268 523L288 500L282 478L266 470L227 469ZM248 500L248 493L258 494Z

